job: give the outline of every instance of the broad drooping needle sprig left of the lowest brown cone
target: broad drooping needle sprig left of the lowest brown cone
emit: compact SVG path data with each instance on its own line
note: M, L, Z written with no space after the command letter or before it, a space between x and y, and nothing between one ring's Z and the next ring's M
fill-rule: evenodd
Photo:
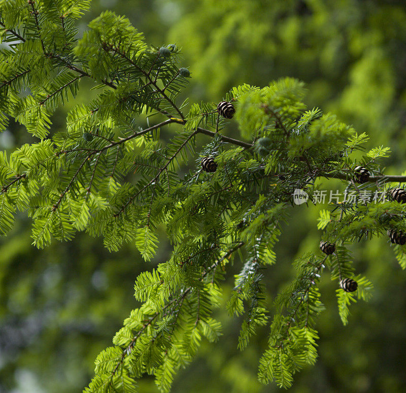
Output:
M316 362L319 337L314 324L324 310L316 283L324 259L304 255L295 261L297 278L275 301L278 314L270 326L269 346L259 364L262 383L276 380L279 386L290 387L296 371Z

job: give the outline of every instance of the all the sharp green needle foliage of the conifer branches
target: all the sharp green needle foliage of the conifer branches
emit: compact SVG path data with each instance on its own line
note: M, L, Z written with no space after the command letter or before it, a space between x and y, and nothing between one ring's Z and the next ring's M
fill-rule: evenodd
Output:
M150 262L158 231L166 231L172 255L138 276L134 294L142 304L124 320L114 346L97 356L86 392L135 391L135 380L144 374L155 376L160 391L169 391L202 340L215 342L223 334L214 310L236 252L243 264L227 310L244 315L238 347L244 350L272 320L258 379L291 386L295 372L316 362L323 270L333 280L353 277L349 243L406 229L395 202L347 202L322 211L318 228L323 240L336 243L336 252L297 258L295 278L270 315L263 272L276 262L274 248L291 214L292 190L314 194L315 178L324 177L361 193L365 187L351 180L355 166L381 174L379 159L389 148L351 157L363 150L366 135L355 134L335 115L307 110L304 84L294 78L226 93L236 107L231 121L249 142L227 137L223 130L231 121L218 116L217 103L193 103L187 115L187 101L178 104L190 73L179 67L176 46L147 45L128 19L110 11L90 22L78 40L74 22L88 6L87 1L0 3L2 39L9 44L1 53L0 123L5 128L14 119L39 139L9 158L6 152L0 156L0 232L9 233L21 211L32 218L38 248L86 231L102 236L110 251L132 243ZM54 133L52 115L75 100L86 78L95 82L95 98L73 107L66 130ZM160 122L138 126L145 115ZM168 125L178 127L172 139L165 134ZM212 140L201 146L199 134ZM207 156L218 164L214 173L200 166ZM185 174L184 165L193 160ZM382 188L384 178L377 179L366 185L370 191ZM384 214L389 218L379 219ZM404 268L402 248L395 252ZM350 302L355 296L367 300L372 287L361 276L355 279L356 293L337 290L344 324Z

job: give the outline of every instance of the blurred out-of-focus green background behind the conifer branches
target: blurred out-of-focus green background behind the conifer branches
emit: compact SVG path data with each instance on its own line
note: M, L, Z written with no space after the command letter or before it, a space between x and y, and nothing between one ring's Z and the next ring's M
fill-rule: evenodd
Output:
M386 173L406 170L406 2L404 0L94 0L79 21L80 31L100 12L126 15L147 42L183 48L182 67L192 79L184 96L191 102L219 102L232 86L267 85L282 76L307 83L310 108L331 111L357 131L369 146L392 148ZM86 82L84 82L86 83ZM88 102L82 89L77 102ZM53 130L64 127L70 103L55 114ZM234 126L234 128L233 128ZM230 135L238 136L232 125ZM12 149L32 139L18 124L0 136ZM342 187L331 182L329 187ZM317 251L320 208L292 208L288 231L277 246L277 264L265 272L272 301L292 276L291 261ZM285 227L285 229L287 226ZM109 253L98 239L79 234L70 243L45 250L30 245L30 222L17 217L0 244L0 392L79 392L93 373L97 353L111 345L129 311L137 307L133 283L143 270L164 260L162 242L146 264L133 245ZM406 272L386 239L354 245L355 267L375 285L373 299L352 307L348 326L337 313L336 283L322 276L319 359L295 377L293 392L406 391ZM225 284L224 304L233 284ZM258 330L242 353L236 349L241 320L217 317L223 337L205 342L194 362L177 377L174 392L272 392L257 382L258 359L267 327ZM157 391L153 378L141 392Z

